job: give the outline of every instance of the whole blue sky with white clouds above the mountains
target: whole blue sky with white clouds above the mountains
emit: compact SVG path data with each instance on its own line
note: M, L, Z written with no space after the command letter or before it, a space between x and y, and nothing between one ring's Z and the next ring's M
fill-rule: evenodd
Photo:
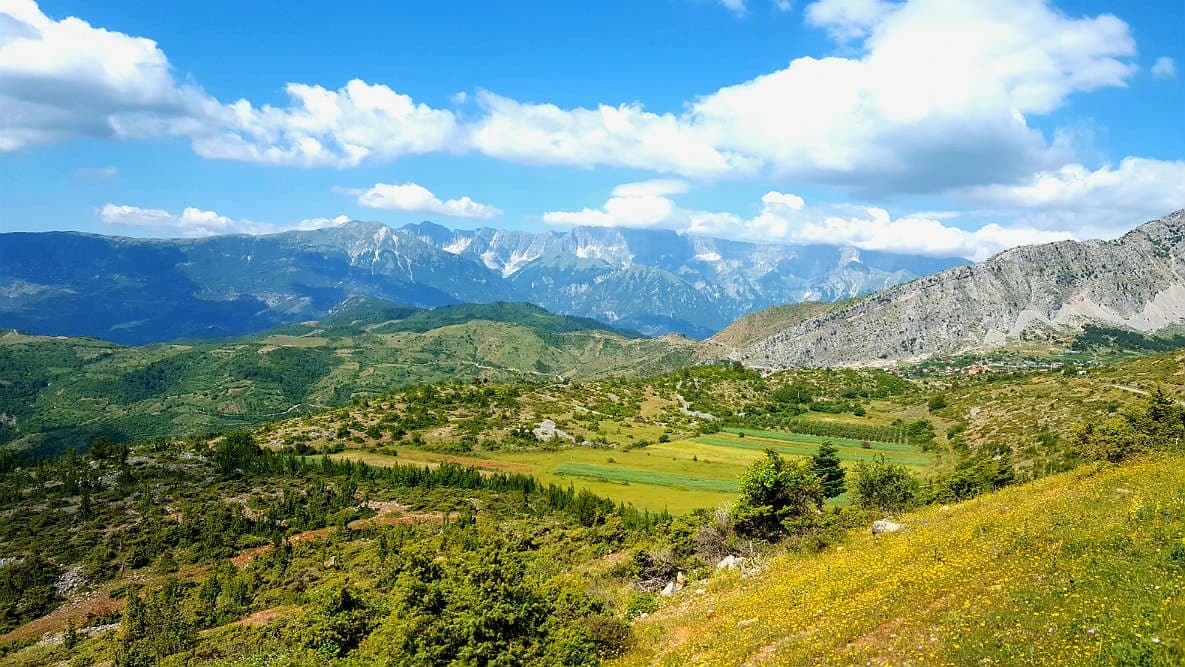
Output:
M1185 4L0 0L0 231L985 258L1185 207Z

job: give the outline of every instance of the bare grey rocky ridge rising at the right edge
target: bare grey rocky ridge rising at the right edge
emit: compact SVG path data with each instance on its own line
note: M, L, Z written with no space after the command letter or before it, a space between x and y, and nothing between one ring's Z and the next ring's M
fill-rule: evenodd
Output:
M1026 245L897 286L737 349L762 368L989 349L1030 329L1185 323L1185 210L1115 240Z

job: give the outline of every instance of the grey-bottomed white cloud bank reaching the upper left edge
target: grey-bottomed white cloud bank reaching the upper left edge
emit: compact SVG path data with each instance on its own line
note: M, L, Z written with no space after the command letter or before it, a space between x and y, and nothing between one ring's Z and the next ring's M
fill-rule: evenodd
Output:
M286 107L230 104L179 83L155 41L53 20L33 0L0 6L0 152L73 136L180 135L199 155L350 167L460 147L449 110L383 84L289 83Z

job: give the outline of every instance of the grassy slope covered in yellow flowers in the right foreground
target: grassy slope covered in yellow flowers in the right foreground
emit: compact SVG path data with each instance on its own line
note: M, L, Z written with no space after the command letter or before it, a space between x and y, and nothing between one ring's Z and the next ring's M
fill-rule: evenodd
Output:
M622 665L1180 665L1183 456L1088 467L719 577Z

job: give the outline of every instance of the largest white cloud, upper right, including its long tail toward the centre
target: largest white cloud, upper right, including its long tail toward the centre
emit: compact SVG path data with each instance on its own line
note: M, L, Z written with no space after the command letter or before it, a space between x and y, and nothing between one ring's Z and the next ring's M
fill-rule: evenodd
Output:
M1135 71L1127 24L1070 18L1043 0L820 0L807 20L863 37L859 56L798 58L679 115L485 92L470 146L520 162L943 192L1071 161L1071 141L1050 141L1026 117Z

